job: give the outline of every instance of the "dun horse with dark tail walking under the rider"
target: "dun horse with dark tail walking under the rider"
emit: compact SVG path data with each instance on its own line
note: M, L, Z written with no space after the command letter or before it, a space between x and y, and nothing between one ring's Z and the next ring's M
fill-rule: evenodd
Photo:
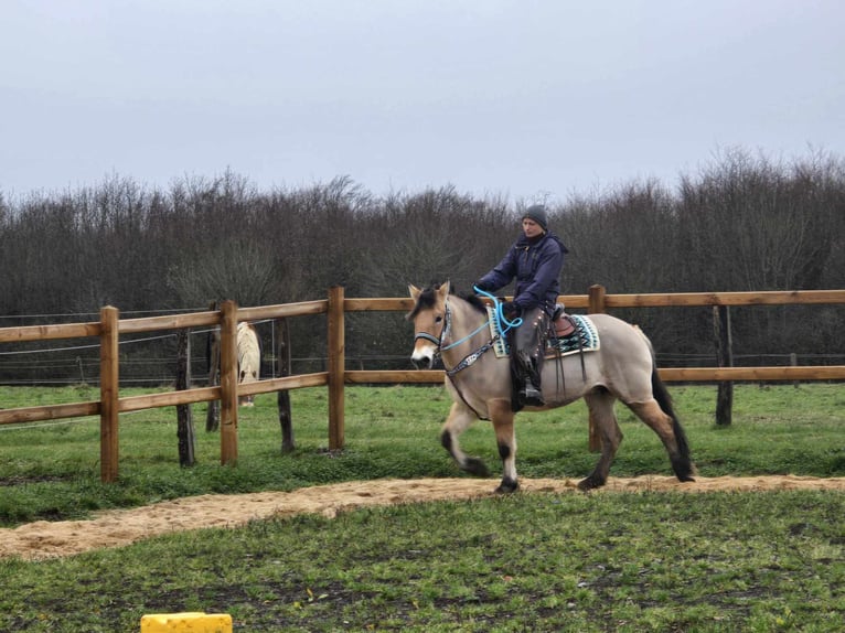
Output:
M417 367L431 368L439 356L453 400L440 433L442 447L461 470L489 476L479 458L461 450L458 438L477 419L491 420L503 466L495 492L515 492L518 481L511 367L506 357L491 353L500 334L492 333L486 308L475 296L460 298L451 293L448 281L425 290L409 285L408 290L414 308L406 318L415 330L410 360ZM495 305L501 314L498 300ZM589 418L600 433L601 454L593 471L578 483L581 491L607 483L622 440L614 411L617 400L657 434L678 481L695 481L686 434L657 375L651 342L638 326L609 314L590 314L587 319L600 341L598 348L547 360L542 376L546 404L525 407L525 411L554 409L585 399Z

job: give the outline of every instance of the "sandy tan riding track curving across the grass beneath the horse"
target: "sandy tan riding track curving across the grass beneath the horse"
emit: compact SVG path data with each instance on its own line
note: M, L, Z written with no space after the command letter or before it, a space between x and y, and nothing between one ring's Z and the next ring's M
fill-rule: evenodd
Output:
M522 479L523 492L577 492L575 480ZM236 527L250 519L339 512L371 505L462 500L490 496L496 482L478 479L376 480L313 486L293 492L202 495L104 512L90 521L39 521L0 529L0 558L42 559L71 556L101 547L128 545L169 532ZM845 478L807 476L698 478L678 483L668 476L611 478L607 492L725 492L774 490L845 491Z

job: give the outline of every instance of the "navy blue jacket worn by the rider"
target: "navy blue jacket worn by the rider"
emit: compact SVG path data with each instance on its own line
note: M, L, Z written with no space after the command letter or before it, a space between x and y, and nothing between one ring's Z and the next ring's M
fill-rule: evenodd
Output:
M550 316L560 294L559 277L567 253L568 249L554 233L534 239L522 234L502 261L479 279L479 283L495 292L515 277L514 303L523 312L542 305Z

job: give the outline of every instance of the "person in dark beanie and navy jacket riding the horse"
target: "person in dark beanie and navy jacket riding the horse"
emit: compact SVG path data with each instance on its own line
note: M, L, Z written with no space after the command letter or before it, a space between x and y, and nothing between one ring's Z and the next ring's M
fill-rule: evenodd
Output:
M509 321L522 316L522 325L509 331L511 369L516 404L542 407L541 369L545 333L560 292L558 278L568 253L564 243L548 230L546 207L535 204L522 215L522 235L495 268L475 282L479 290L495 292L516 278L513 301L502 304Z

